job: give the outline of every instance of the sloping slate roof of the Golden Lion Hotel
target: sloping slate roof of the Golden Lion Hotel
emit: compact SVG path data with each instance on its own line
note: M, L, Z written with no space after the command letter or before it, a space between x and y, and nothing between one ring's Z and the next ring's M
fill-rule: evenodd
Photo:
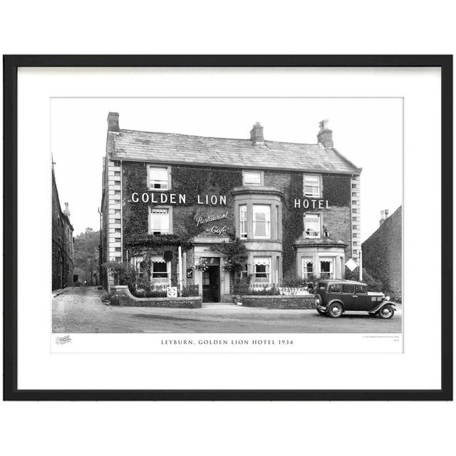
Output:
M249 139L207 138L175 133L120 130L108 135L113 143L113 160L160 162L181 165L302 170L359 174L356 167L334 148L318 144L264 141L254 145Z

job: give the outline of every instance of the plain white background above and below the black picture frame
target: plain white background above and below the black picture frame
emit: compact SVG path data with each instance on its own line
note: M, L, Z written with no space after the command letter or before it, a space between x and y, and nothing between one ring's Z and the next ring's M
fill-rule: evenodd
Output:
M455 51L446 1L139 3L17 1L2 10L2 51ZM454 447L454 423L453 403L7 403L0 428L11 455L421 455Z

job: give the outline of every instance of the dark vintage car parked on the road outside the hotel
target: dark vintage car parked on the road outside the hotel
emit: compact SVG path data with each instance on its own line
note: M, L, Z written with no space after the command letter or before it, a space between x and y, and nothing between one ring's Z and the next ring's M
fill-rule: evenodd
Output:
M395 304L390 296L368 291L363 282L351 280L321 280L314 289L314 306L318 314L340 317L345 311L368 312L371 316L392 318Z

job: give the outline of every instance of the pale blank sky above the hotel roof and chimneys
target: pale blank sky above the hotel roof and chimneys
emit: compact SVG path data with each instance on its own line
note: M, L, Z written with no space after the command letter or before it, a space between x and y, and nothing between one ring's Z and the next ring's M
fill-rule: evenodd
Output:
M361 241L378 228L380 210L403 202L401 98L53 98L51 153L75 236L99 229L108 112L120 128L248 139L255 122L264 139L316 143L329 120L334 147L361 172Z

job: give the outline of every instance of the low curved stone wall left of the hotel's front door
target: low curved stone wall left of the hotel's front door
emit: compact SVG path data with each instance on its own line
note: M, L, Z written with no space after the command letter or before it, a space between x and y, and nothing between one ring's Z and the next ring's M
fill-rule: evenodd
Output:
M174 309L198 309L201 307L202 298L136 298L130 293L126 285L111 286L113 296L110 302L114 306L139 306L139 307L167 307Z

